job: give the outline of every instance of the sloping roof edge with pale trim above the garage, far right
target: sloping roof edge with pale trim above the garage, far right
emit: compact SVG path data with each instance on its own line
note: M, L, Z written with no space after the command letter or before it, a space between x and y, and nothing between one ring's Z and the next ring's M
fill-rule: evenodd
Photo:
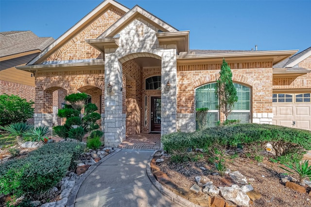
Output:
M309 56L311 56L311 47L279 62L273 68L292 68Z

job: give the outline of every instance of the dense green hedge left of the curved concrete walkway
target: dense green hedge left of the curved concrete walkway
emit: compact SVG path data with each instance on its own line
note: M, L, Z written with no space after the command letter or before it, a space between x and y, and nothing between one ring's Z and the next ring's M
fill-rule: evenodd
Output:
M38 195L50 190L83 153L81 143L49 143L26 157L0 165L0 194Z

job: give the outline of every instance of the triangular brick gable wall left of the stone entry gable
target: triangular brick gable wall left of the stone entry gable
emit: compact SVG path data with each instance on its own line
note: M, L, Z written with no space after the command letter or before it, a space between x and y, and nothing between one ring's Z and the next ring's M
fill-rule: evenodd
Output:
M123 15L124 13L111 7L54 52L47 61L102 58L101 52L87 44L85 40L95 39L102 35L106 29Z

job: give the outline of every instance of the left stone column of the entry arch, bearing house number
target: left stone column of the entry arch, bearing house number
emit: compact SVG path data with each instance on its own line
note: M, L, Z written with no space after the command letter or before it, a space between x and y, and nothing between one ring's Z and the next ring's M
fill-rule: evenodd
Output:
M111 50L111 49L110 49ZM118 147L125 139L122 116L122 64L114 52L105 52L104 141L105 146ZM107 92L110 83L112 91Z

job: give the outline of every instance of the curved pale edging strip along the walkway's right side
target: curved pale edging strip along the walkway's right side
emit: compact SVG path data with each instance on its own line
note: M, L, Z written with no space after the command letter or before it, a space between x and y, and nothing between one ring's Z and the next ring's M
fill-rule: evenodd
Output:
M152 173L151 170L151 161L154 158L155 153L157 152L157 150L150 155L148 162L147 162L147 167L146 167L146 171L147 171L147 175L151 181L151 183L155 186L155 188L157 190L159 190L163 195L165 195L167 198L169 198L170 200L172 200L174 203L180 205L181 207L201 207L197 204L194 204L192 202L190 202L189 200L173 193L171 190L168 190L167 188L163 187L156 179L154 174Z

